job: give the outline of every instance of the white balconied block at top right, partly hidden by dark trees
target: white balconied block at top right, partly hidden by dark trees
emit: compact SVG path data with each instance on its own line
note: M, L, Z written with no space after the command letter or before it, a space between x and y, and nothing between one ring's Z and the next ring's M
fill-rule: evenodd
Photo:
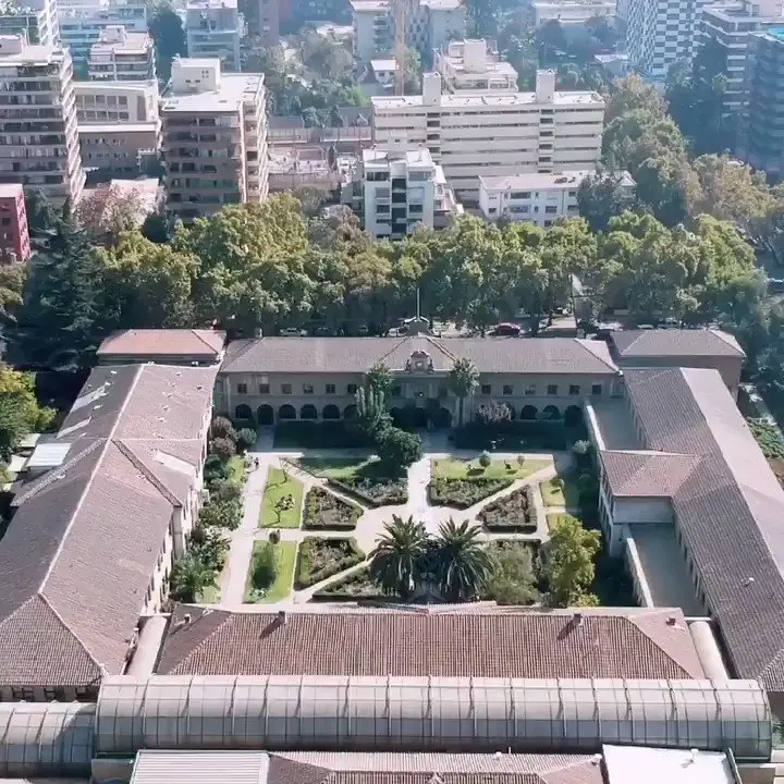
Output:
M738 111L746 102L744 81L750 35L781 26L784 26L782 0L743 0L702 10L698 45L716 45L726 62L725 112Z

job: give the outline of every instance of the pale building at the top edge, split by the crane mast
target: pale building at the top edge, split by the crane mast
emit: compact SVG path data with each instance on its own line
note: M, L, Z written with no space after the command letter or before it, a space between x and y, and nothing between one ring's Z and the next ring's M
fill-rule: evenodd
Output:
M420 54L465 38L466 10L461 0L401 0L405 3L406 42ZM395 20L390 0L351 0L354 54L362 61L394 49Z

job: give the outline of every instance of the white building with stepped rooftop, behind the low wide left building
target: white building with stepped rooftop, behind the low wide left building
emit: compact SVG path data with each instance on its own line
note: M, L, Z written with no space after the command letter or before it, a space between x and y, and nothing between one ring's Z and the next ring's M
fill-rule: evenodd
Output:
M149 33L107 27L90 49L88 74L91 79L147 82L155 79L155 45Z

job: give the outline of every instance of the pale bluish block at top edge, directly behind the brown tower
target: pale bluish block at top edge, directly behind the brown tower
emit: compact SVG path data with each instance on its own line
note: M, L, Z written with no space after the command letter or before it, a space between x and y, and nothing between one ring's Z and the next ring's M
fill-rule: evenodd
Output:
M189 58L218 58L224 71L240 71L244 22L237 0L188 0L185 37Z

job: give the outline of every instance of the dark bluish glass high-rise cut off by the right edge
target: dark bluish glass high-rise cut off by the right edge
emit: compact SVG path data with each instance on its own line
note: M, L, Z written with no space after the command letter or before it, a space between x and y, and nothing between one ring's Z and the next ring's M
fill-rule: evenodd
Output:
M784 176L784 27L752 33L738 157L775 179Z

